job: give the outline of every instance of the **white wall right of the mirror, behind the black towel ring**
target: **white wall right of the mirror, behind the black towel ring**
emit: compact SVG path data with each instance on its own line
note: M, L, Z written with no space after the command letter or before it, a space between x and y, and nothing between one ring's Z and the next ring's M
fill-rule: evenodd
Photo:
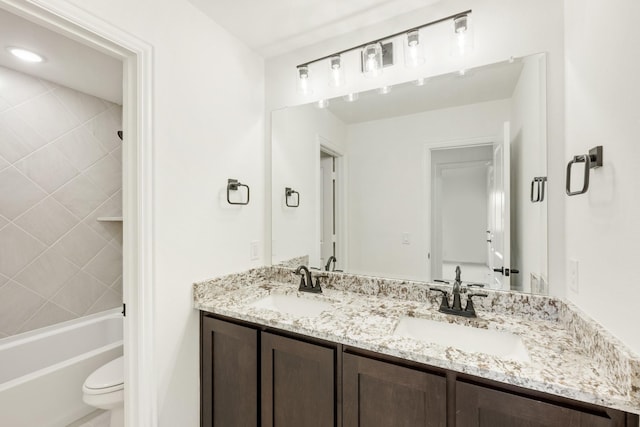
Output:
M567 257L579 262L569 298L640 353L638 16L636 0L565 1L564 161L604 147L589 192L567 197Z

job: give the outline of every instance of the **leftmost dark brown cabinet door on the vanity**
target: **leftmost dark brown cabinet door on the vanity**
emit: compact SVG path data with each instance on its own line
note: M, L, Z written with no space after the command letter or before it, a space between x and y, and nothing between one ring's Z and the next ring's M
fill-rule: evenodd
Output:
M200 425L258 426L258 331L202 318Z

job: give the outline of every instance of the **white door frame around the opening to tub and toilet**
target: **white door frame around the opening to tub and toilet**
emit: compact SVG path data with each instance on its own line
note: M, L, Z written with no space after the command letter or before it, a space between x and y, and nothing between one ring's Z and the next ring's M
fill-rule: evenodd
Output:
M155 427L152 46L65 0L0 0L0 8L123 63L125 425Z

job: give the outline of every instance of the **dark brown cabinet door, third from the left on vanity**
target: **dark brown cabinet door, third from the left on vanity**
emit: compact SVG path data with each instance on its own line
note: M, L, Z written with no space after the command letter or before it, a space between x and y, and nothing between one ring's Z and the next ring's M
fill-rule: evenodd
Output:
M444 427L445 377L352 354L343 357L344 427Z

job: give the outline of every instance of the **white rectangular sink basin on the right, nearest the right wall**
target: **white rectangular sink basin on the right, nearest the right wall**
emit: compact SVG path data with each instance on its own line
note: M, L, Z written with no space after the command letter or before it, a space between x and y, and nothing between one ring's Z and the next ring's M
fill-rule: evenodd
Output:
M470 353L485 353L519 362L529 361L529 353L522 339L509 332L402 317L393 335L453 347Z

